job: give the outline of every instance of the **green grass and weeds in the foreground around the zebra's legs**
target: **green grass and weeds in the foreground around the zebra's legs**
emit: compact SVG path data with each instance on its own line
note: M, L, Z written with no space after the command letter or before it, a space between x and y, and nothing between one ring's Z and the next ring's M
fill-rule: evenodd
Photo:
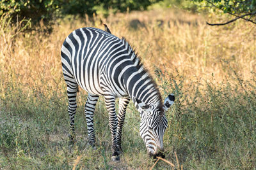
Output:
M182 76L163 76L163 94L174 92L175 104L167 113L169 126L164 134L166 159L186 169L252 169L255 167L256 100L255 80L237 84L191 83L184 89ZM236 76L236 75L234 75ZM168 77L169 79L166 79ZM214 79L214 76L212 76ZM154 164L148 158L143 140L139 136L140 117L133 104L129 104L124 125L122 161L111 162L111 136L108 113L100 98L95 111L97 149L88 146L83 104L86 95L79 92L76 115L77 145L68 146L68 114L65 94L40 88L30 94L21 83L1 81L8 87L1 91L0 165L4 169L70 169L78 155L77 168L111 169L129 167L147 169ZM168 87L171 87L168 88ZM63 87L65 89L65 87ZM61 90L62 91L62 90ZM164 162L156 168L170 167Z

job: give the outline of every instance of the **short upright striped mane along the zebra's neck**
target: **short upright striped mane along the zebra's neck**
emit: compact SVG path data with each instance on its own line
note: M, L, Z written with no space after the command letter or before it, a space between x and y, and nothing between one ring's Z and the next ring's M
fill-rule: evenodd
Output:
M134 62L134 65L137 67L138 70L140 70L141 75L146 75L145 76L145 81L149 80L150 83L153 85L151 89L152 92L156 92L156 99L158 101L158 106L159 109L163 109L163 100L161 97L161 94L159 92L159 89L157 87L156 81L152 78L152 76L149 74L148 70L143 66L143 62L141 61L141 58L138 56L138 54L135 52L134 48L129 44L129 42L123 37L122 38L122 43L125 45L125 48L127 49L127 53L129 53L129 56L131 57L132 61Z

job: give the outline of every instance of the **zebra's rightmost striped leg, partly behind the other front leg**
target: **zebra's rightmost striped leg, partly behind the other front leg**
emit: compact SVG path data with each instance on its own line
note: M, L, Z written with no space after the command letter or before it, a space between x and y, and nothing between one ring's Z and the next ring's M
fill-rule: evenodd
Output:
M118 124L117 124L117 132L116 132L116 144L120 151L122 151L122 148L121 148L122 128L124 125L125 113L126 113L126 109L129 104L129 101L130 101L130 97L120 98L119 100L119 108L118 108L118 115L117 115Z

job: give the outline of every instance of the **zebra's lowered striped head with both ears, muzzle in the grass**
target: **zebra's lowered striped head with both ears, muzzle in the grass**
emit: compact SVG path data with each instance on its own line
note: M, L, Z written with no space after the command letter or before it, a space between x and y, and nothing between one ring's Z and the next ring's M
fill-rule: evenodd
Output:
M160 105L146 104L136 99L141 113L140 136L150 156L163 156L163 136L168 124L165 112L172 106L174 100L173 94L166 97L164 104Z

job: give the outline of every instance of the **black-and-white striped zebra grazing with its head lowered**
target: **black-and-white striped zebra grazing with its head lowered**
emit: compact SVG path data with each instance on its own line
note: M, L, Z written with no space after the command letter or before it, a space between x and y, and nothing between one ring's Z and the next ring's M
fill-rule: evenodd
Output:
M130 100L140 112L140 135L150 155L163 150L167 127L165 111L174 102L173 94L162 101L156 83L124 38L93 27L73 31L61 47L61 62L67 83L70 142L75 142L74 116L78 86L88 92L84 105L89 143L95 146L93 113L99 96L104 96L109 113L112 160L120 160L122 127ZM120 97L118 115L115 99Z

